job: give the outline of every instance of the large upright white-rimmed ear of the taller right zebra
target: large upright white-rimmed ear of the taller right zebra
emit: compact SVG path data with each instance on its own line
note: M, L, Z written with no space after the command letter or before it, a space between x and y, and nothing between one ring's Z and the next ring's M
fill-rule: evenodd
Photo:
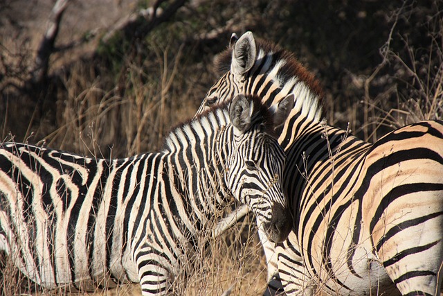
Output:
M233 37L230 37L231 44L233 44L233 58L230 63L230 72L235 76L243 76L244 73L251 70L255 63L255 58L257 58L257 46L255 45L254 36L251 32L246 32L237 42L233 42Z

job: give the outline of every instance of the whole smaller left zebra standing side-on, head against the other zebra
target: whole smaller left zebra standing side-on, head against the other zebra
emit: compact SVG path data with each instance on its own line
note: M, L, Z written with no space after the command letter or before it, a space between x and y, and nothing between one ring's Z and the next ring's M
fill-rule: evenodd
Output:
M125 159L1 144L0 250L46 288L133 281L143 295L164 295L229 196L251 207L271 241L284 240L292 220L273 137L293 97L284 102L270 111L236 96L175 128L161 152Z

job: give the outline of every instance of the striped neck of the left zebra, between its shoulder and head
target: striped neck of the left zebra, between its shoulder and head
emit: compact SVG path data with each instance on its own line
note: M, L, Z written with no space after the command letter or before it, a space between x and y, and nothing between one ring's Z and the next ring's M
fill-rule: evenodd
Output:
M192 123L192 128L197 126ZM176 150L165 155L168 180L172 195L179 196L184 204L188 216L188 225L193 225L190 233L201 233L215 226L215 217L221 214L226 207L228 191L224 177L223 148L228 146L223 135L228 128L224 128L225 121L210 128L204 127L204 132L199 132L201 139L191 139L176 130L170 135L170 143L176 139L186 139L180 145L175 145ZM188 227L189 228L189 227Z

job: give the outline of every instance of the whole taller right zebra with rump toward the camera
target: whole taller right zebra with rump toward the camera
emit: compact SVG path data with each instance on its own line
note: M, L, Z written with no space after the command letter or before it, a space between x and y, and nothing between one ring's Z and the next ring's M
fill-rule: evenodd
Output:
M219 69L226 73L197 114L235 94L258 95L267 106L288 94L296 99L278 130L294 228L275 245L277 257L259 227L269 279L275 278L269 289L275 293L282 284L287 295L438 293L442 121L408 125L373 145L352 137L320 121L322 93L311 73L291 53L256 41L251 32L239 39L233 34Z

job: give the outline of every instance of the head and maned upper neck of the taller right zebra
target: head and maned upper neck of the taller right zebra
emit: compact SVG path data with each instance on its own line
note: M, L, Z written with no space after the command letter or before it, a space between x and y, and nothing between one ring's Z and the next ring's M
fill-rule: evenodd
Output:
M251 32L241 37L233 33L228 49L217 58L217 68L221 77L206 93L197 114L237 94L260 96L268 107L294 94L296 105L289 118L301 110L308 118L320 120L322 88L294 55L278 44L255 40Z

